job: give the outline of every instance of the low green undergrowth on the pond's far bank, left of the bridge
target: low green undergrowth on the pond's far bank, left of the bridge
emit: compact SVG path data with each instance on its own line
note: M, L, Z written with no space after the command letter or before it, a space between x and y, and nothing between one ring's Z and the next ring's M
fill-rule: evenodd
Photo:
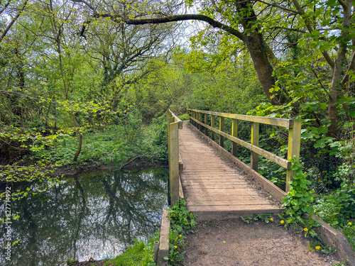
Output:
M48 147L37 149L24 160L40 160L54 167L76 168L91 163L106 165L115 157L126 162L132 157L141 157L152 165L167 160L167 136L163 117L146 126L107 126L103 131L84 133L82 150L77 162L73 157L77 152L77 138L66 135Z

